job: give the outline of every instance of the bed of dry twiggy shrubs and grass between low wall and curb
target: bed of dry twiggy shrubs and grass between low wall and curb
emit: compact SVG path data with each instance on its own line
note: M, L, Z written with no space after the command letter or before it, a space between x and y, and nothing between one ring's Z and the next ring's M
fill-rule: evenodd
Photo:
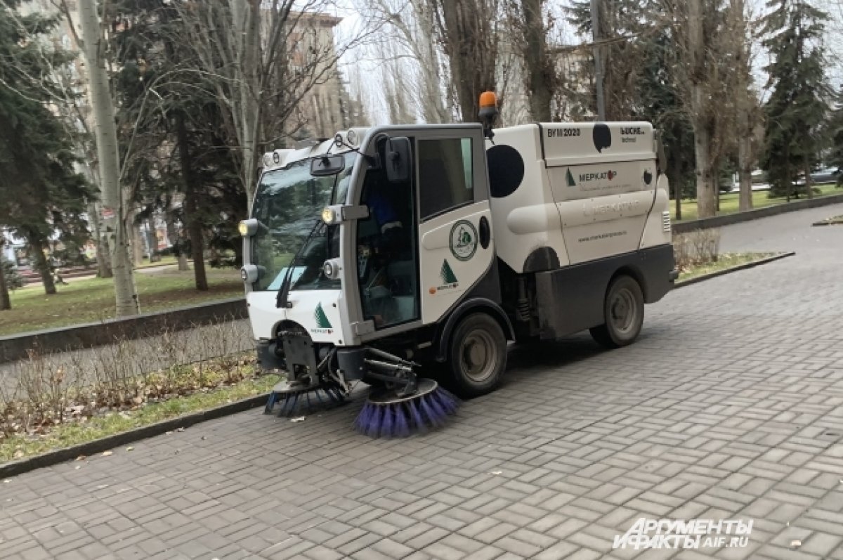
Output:
M204 329L201 337L164 331L88 353L30 353L15 364L13 383L0 384L0 460L45 450L45 441L68 444L70 434L77 434L72 443L78 443L80 434L94 439L125 429L126 423L104 420L115 414L152 423L223 398L201 397L207 393L222 390L229 399L244 387L252 393L263 390L266 380L260 378L254 352L238 352L242 325L226 322ZM85 429L92 425L98 428Z

